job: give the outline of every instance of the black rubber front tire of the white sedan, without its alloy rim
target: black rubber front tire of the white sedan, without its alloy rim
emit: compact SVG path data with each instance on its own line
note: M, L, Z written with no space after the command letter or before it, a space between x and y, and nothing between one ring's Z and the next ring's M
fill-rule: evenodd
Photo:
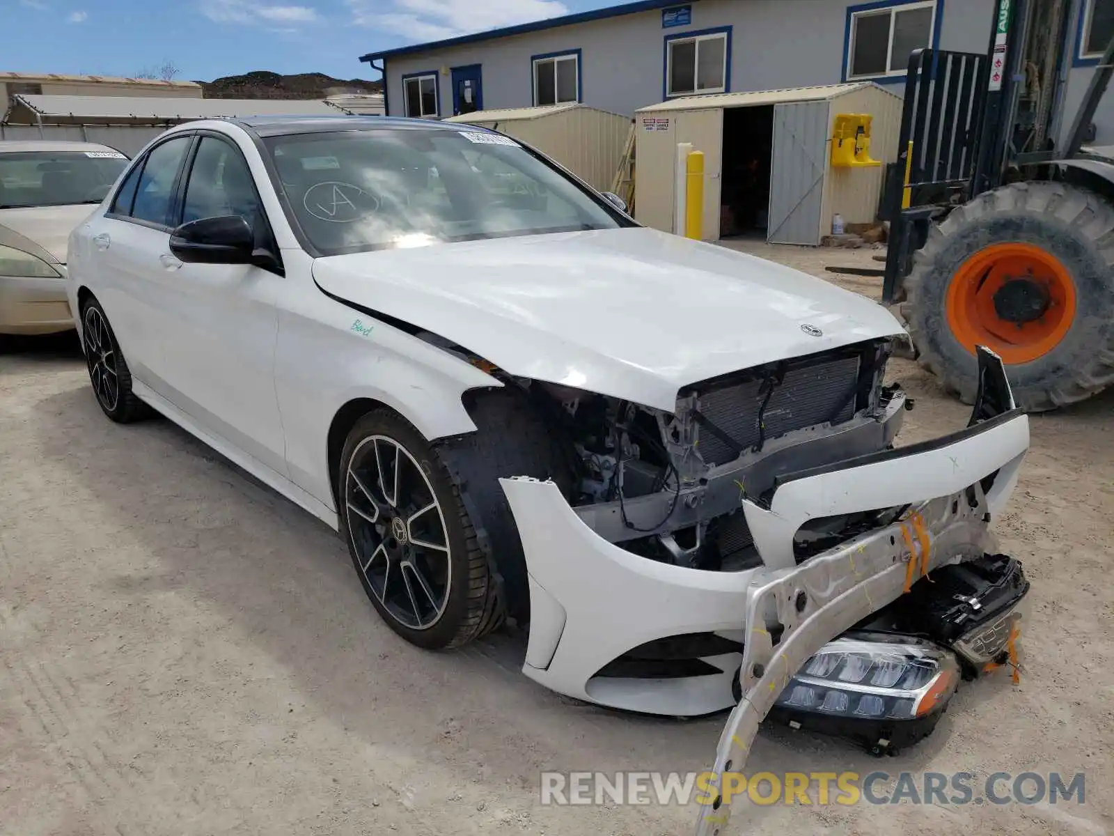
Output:
M385 436L410 453L429 479L443 514L451 562L448 596L439 620L424 629L413 629L400 623L379 600L361 565L363 558L356 545L351 512L345 500L345 480L354 454L361 443L372 436ZM480 548L476 527L461 502L460 489L449 475L437 447L427 441L413 425L387 408L375 409L363 416L355 422L344 443L336 484L341 533L348 542L356 576L372 605L394 632L420 648L447 650L467 644L501 623L504 609L499 600L498 583L487 555Z

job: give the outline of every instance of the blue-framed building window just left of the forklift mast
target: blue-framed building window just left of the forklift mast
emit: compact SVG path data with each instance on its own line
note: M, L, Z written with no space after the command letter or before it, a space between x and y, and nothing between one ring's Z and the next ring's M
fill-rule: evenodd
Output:
M903 76L912 51L932 45L936 0L859 8L848 10L848 79Z

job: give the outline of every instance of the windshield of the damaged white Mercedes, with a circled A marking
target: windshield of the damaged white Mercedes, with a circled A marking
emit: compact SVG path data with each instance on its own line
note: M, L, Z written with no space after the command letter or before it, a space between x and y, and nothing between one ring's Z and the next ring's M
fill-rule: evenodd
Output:
M325 255L629 223L499 134L351 130L266 145L293 220Z

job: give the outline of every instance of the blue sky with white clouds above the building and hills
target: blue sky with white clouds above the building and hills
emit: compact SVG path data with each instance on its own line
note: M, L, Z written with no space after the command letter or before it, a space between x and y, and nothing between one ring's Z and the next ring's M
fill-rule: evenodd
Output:
M372 78L359 56L622 0L0 0L0 70Z

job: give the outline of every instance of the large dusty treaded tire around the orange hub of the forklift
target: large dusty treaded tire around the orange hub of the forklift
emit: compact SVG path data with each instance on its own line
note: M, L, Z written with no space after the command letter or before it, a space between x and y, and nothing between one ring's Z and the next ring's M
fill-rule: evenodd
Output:
M978 362L952 333L948 288L983 249L1025 243L1054 255L1071 274L1076 307L1068 331L1035 360L1006 363L1019 407L1030 412L1089 398L1114 382L1114 205L1065 183L1015 183L955 208L929 232L905 280L901 314L921 366L967 404ZM994 348L989 346L989 348Z

